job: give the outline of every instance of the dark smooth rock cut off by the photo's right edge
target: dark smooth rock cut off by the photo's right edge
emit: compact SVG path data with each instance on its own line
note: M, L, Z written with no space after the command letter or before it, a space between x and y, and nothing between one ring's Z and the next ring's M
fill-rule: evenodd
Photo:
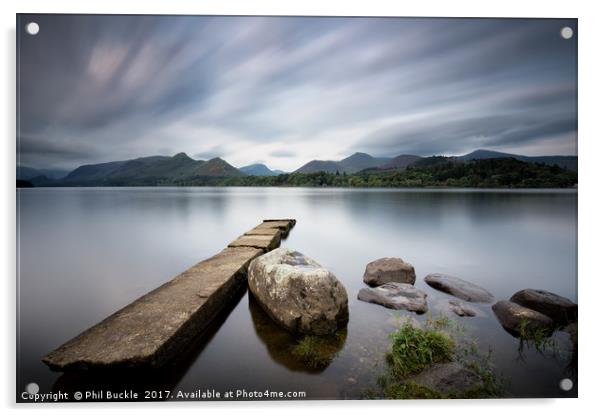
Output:
M558 323L577 320L577 304L549 291L520 290L510 298L510 301L539 311Z

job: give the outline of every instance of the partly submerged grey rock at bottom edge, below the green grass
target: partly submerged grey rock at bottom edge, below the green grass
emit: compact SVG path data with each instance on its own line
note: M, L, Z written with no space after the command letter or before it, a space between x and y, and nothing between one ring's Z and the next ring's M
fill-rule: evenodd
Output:
M412 380L445 394L461 394L482 384L479 375L457 362L435 364Z

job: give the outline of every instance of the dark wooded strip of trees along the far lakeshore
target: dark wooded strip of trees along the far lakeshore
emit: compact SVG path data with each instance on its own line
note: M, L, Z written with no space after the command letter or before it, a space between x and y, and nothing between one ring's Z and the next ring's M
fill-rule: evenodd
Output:
M423 158L403 170L365 169L356 173L284 173L271 176L103 176L94 179L30 180L37 187L97 186L216 186L216 187L336 187L336 188L575 188L578 174L558 165L515 158L459 161ZM17 187L19 184L17 183Z

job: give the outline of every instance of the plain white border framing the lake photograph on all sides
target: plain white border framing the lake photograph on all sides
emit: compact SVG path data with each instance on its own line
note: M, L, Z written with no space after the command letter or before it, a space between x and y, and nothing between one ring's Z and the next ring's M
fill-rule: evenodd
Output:
M380 0L146 0L124 1L3 1L0 19L3 24L1 126L5 129L2 148L2 250L0 265L4 267L3 282L3 341L0 344L2 372L0 398L3 408L15 411L50 415L82 413L104 415L117 409L128 414L165 415L168 409L178 414L195 416L236 413L255 416L295 416L316 412L333 413L335 408L346 414L366 413L426 413L446 417L467 414L504 415L518 411L551 415L587 415L598 413L596 400L600 397L598 373L601 324L597 304L602 294L596 255L600 251L598 212L602 199L599 159L602 132L599 123L599 76L602 74L600 27L602 15L594 1L380 1ZM99 405L15 405L15 13L131 13L131 14L280 14L280 15L347 15L347 16L469 16L469 17L571 17L579 18L579 303L580 303L580 366L578 400L495 400L495 401L329 401L294 403L177 403L177 404L99 404ZM598 175L596 175L598 174ZM591 410L591 411L590 411Z

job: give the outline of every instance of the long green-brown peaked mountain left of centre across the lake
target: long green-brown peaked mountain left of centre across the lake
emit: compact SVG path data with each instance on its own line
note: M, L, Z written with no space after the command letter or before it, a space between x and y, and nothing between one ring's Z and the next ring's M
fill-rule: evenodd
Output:
M73 170L65 185L159 185L199 177L243 176L221 158L197 161L185 153L149 156L102 164L82 165Z

